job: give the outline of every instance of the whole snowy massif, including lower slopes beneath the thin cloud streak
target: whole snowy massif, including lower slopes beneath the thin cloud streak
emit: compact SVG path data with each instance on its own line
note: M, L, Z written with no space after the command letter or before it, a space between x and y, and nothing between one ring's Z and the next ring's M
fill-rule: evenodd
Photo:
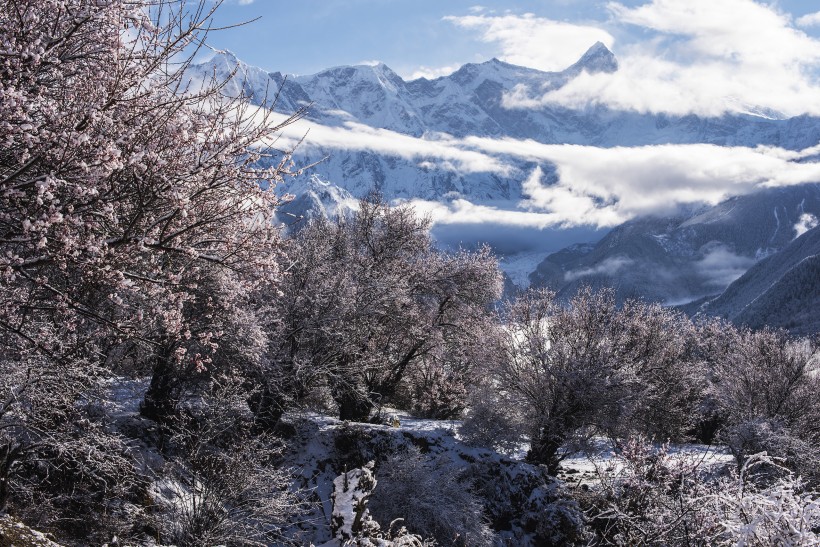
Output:
M820 142L820 122L810 117L771 119L737 113L702 118L619 112L603 105L574 110L557 105L510 108L506 104L521 89L543 93L560 88L582 72L611 72L617 66L615 56L598 43L562 72L541 72L492 59L464 65L435 80L405 81L384 64L285 77L245 65L229 52L217 54L190 72L192 78L203 79L225 78L235 71L228 93L243 92L259 104L276 97L274 108L282 113L311 105L307 119L313 126L307 124L311 133L302 145L303 161L326 157L311 174L356 197L375 189L388 199L438 201L458 195L472 203L504 202L514 208L522 199L522 182L536 165L547 179L554 177L550 162L503 151L496 155L508 169L469 169L463 158L432 151L451 139L459 143L463 139L530 139L541 144L597 147L771 145L788 150ZM354 144L342 132L332 132L351 127L364 131L370 140ZM319 135L322 130L325 134Z

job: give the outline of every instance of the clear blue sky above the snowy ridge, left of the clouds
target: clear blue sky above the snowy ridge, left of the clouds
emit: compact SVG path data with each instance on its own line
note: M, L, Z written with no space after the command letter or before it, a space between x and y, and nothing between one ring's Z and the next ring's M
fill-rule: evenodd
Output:
M620 2L627 8L648 3ZM600 0L226 0L217 24L260 19L215 33L210 42L269 70L312 74L331 66L378 60L410 77L446 73L467 62L505 56L503 45L486 41L481 28L460 26L453 17L531 13L543 20L597 27L614 38L611 46L616 54L656 37L654 30L619 20L609 4ZM820 11L817 0L779 0L766 5L793 21ZM483 9L479 11L478 6ZM742 9L735 16L742 19ZM820 24L800 27L800 31L820 38ZM544 47L567 49L567 58L583 53L574 43Z

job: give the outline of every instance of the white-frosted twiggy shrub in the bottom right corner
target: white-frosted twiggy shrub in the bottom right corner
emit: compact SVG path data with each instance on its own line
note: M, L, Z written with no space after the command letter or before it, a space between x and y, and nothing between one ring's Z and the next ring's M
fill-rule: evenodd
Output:
M817 545L820 502L785 468L760 482L757 454L729 473L701 468L667 447L631 439L582 496L595 542L604 545Z

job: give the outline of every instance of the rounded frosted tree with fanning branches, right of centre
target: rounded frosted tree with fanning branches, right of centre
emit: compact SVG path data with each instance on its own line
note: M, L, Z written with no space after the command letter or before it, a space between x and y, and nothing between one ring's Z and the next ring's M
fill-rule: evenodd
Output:
M619 308L606 290L585 289L567 303L537 290L512 302L502 321L486 379L498 395L476 401L466 431L486 437L494 416L519 424L529 459L555 474L561 448L579 434L666 440L693 425L700 388L684 317L642 302Z

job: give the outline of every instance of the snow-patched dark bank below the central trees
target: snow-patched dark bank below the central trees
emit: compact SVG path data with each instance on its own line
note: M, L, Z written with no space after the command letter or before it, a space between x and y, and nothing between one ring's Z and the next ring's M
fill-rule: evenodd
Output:
M524 461L528 445L522 443L512 453L502 454L486 447L470 446L460 438L458 420L427 420L406 413L384 411L385 424L361 424L343 422L336 418L302 413L290 415L286 421L297 431L286 457L287 464L297 470L296 483L310 488L317 502L308 519L292 530L296 537L314 544L331 540L331 515L333 481L345 471L361 467L376 460L375 478L379 480L379 461L394 454L401 454L407 447L420 448L429 465L443 474L467 472L480 483L482 474L486 482L498 481L492 490L505 492L502 503L510 499L542 500L534 505L511 508L522 515L531 511L543 511L562 490L595 488L602 477L615 476L622 469L622 460L611 443L603 438L593 439L588 454L569 455L561 465L559 482L550 482L545 470ZM733 465L732 456L721 447L704 445L668 445L666 454L681 463L698 464L703 471L719 470ZM541 486L537 486L537 485ZM517 492L517 493L516 493ZM486 494L486 492L485 492ZM485 501L488 506L498 506L499 500ZM528 502L529 503L529 502ZM540 505L539 505L540 504ZM513 525L513 531L505 541L509 544L530 545L526 528L526 516ZM515 535L518 534L518 535ZM502 534L503 535L503 534Z

